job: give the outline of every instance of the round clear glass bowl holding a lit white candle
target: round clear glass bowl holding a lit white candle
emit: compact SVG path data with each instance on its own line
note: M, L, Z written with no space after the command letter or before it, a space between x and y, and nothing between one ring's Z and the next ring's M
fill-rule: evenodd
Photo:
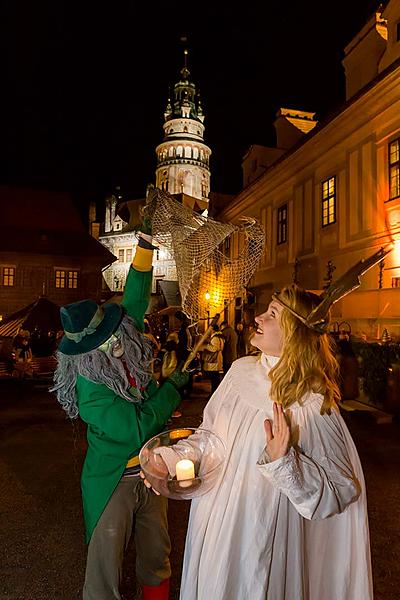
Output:
M194 427L163 431L146 442L139 453L147 481L161 495L174 500L206 494L221 474L224 460L221 438Z

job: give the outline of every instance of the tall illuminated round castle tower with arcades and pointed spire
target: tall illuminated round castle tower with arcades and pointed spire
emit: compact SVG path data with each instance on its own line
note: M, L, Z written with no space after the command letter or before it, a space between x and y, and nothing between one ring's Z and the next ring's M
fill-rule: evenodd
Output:
M164 139L156 148L156 187L208 205L211 150L204 143L204 114L200 94L189 80L187 55L185 50L173 102L168 99L164 112Z

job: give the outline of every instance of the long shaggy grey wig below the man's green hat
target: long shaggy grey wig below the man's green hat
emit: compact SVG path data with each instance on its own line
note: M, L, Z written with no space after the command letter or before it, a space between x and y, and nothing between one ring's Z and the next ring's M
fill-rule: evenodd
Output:
M137 329L134 320L128 315L124 315L117 331L125 349L122 359L98 349L77 355L57 352L58 365L54 373L54 386L50 391L57 393L58 402L71 419L77 417L79 412L76 397L78 375L93 383L106 385L128 402L141 400L140 390L151 379L151 342ZM122 361L136 380L137 388L133 393L132 390L129 392L131 384Z

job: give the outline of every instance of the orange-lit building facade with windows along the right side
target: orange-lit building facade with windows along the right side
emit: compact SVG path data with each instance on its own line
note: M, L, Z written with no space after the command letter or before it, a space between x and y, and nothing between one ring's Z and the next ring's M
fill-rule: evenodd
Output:
M344 105L323 123L313 113L281 108L277 147L249 149L244 189L218 218L234 222L248 215L265 229L250 313L265 310L272 293L291 281L321 291L390 245L361 287L334 305L333 319L334 328L346 326L363 338L380 339L384 329L400 337L398 0L381 5L350 41L343 66ZM235 241L230 251L240 253Z

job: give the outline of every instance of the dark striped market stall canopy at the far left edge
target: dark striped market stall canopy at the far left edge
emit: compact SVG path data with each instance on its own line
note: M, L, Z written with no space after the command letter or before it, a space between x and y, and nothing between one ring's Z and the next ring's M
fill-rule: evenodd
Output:
M60 307L45 297L12 313L0 323L0 337L14 337L20 328L33 331L37 327L42 331L62 329Z

